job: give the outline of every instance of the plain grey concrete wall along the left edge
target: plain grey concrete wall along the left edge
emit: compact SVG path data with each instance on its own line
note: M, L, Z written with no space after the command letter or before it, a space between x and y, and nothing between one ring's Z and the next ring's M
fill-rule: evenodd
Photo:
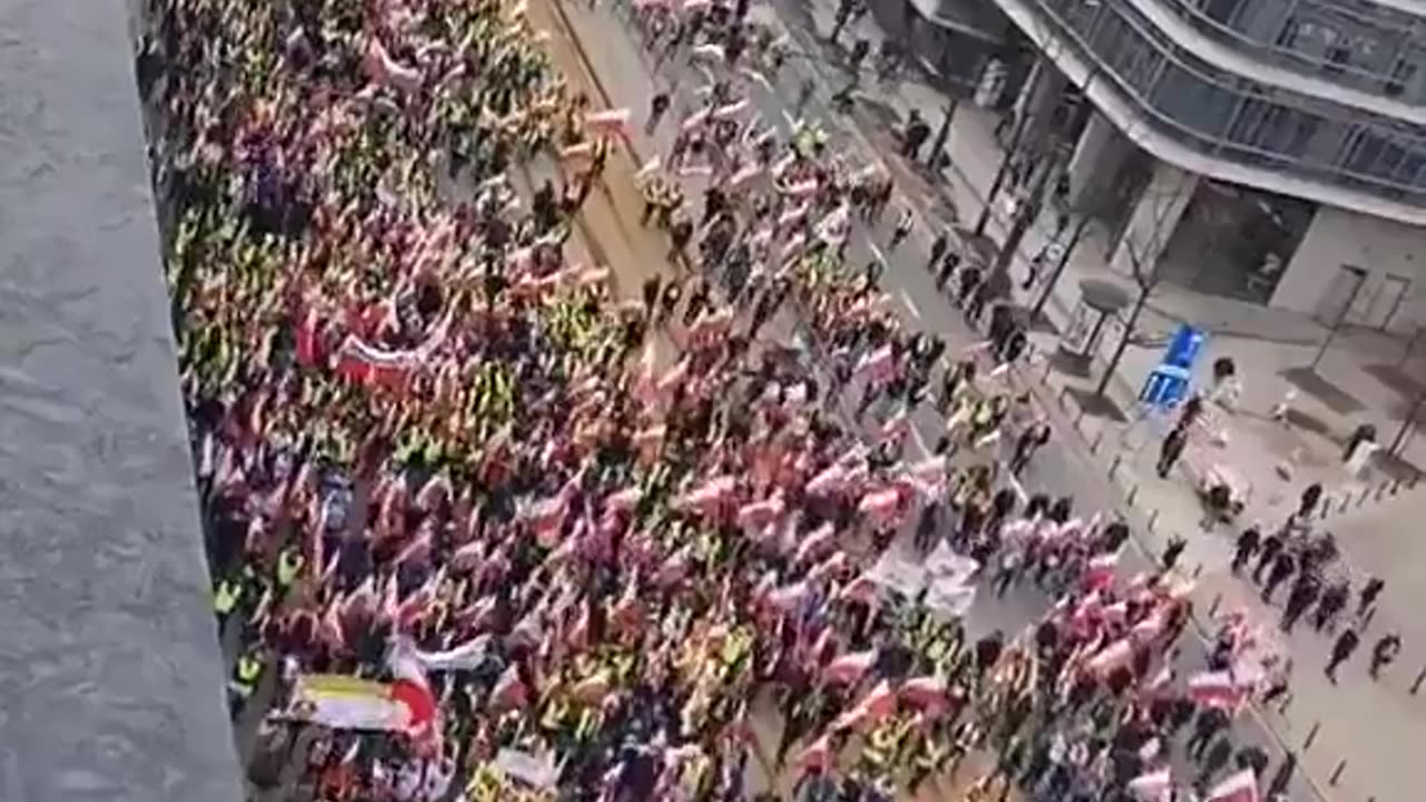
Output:
M235 802L118 0L0 0L0 799Z

